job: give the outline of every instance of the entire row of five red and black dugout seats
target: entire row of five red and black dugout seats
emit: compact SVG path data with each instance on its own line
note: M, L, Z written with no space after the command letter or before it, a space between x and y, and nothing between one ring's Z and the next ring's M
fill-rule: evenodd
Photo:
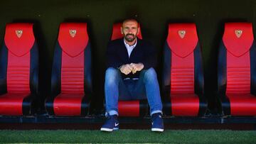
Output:
M114 24L111 40L122 38ZM139 33L138 38L142 39ZM256 115L256 47L252 23L225 23L218 57L218 97L223 113ZM92 93L91 45L87 23L61 23L51 75L50 116L86 116ZM162 100L166 116L204 116L201 45L194 23L171 23L164 45ZM38 45L33 23L6 25L0 50L0 115L34 111L38 96ZM146 101L119 101L120 116L146 116Z

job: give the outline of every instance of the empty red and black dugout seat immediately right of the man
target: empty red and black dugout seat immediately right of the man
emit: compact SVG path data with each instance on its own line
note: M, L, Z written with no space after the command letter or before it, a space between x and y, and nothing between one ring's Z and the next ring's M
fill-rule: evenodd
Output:
M203 116L206 113L201 46L194 23L169 24L163 76L166 116Z

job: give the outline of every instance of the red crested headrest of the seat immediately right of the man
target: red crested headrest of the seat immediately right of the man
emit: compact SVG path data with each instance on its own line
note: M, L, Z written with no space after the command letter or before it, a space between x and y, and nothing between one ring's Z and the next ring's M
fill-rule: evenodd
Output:
M178 57L186 57L196 48L198 35L195 23L169 24L167 43Z

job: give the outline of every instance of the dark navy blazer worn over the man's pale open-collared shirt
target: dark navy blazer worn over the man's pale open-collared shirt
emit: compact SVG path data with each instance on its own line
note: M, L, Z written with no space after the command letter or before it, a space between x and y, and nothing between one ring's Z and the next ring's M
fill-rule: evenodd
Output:
M139 62L143 63L144 70L156 66L156 51L155 48L149 43L137 38L137 45L132 50L130 57L128 55L127 48L124 45L124 38L112 40L110 43L108 43L107 67L118 68L121 65ZM127 75L122 74L122 77L139 77L139 72L136 72L135 74L130 73Z

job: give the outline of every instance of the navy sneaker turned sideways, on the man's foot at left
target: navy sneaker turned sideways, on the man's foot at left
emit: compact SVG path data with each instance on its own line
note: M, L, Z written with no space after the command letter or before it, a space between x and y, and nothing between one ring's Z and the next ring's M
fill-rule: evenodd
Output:
M117 115L107 116L107 121L100 128L100 131L113 131L119 129L119 122L117 121Z

